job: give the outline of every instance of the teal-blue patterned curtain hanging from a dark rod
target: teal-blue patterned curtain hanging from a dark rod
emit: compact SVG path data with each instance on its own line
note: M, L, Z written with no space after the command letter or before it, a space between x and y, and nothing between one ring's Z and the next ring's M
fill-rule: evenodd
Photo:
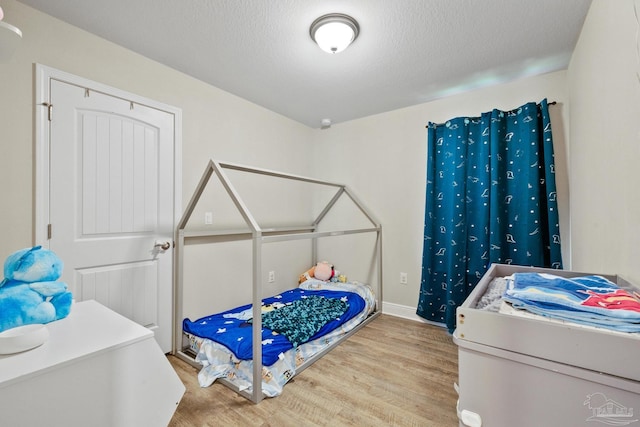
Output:
M417 314L456 325L491 263L562 268L546 100L429 123Z

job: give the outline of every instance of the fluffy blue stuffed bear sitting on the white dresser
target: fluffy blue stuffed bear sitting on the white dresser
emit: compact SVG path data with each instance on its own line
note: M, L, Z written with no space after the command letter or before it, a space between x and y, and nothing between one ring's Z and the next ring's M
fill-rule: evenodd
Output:
M0 283L0 332L69 315L73 296L64 282L62 261L41 246L14 252L4 263Z

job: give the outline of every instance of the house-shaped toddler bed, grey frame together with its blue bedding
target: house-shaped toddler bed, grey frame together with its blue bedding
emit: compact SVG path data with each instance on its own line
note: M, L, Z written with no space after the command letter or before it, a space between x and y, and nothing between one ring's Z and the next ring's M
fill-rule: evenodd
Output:
M264 207L264 194L270 194L266 190L285 188L286 191L278 193L282 196L280 198L270 196L272 199L277 198L279 203L269 205L266 210L257 209L259 212L252 212L234 186L228 171L233 171L238 182L246 185L245 193L248 196L257 197L258 200L254 200L252 205L256 208ZM196 209L201 209L201 196L205 193L208 196L218 194L215 191L205 191L209 185L213 185L209 182L213 176L237 209L240 222L244 225L236 228L233 222L225 226L226 221L221 221L219 226L214 223L207 229L187 229L194 212L201 213ZM245 179L250 177L257 179L247 185L249 181ZM316 194L328 197L316 199ZM284 200L287 197L289 199ZM290 206L302 203L301 199L308 201L305 206L312 209L291 210ZM327 203L324 204L321 200L326 200ZM223 209L225 205L223 202L212 206ZM258 221L254 213L264 215L265 212L268 215L264 221ZM293 213L302 214L302 217L290 218ZM274 219L276 214L281 215L277 220ZM224 218L224 215L216 215L216 218L220 217ZM310 242L309 261L311 265L316 265L322 249L318 244L319 240L333 240L335 236L353 238L356 235L365 236L366 242L373 243L371 253L366 248L364 250L367 252L351 251L353 253L342 253L341 257L355 256L352 262L355 261L365 272L366 280L371 286L357 282L324 282L316 280L320 276L314 275L306 281L302 278L302 283L296 289L262 300L262 259L265 245L306 240ZM338 239L340 237L336 240ZM242 260L251 260L252 263L252 280L246 283L251 286L252 304L195 321L185 319L183 290L185 286L189 286L184 280L185 247L190 242L200 245L239 240L252 241L251 254L246 258L242 257ZM333 250L326 247L324 249ZM340 257L340 253L337 256ZM383 289L382 226L344 184L210 160L178 223L174 257L176 280L172 353L201 367L198 376L201 385L219 381L254 403L259 403L265 396L279 395L282 386L294 375L380 314ZM233 292L228 283L214 285ZM242 285L244 284L240 284ZM278 308L273 310L275 307ZM318 308L321 308L322 314L319 314ZM269 310L280 312L278 316L289 311L306 312L311 314L312 323L263 313ZM283 329L283 324L287 326L287 323L293 323L298 328ZM274 331L277 331L277 335L273 334ZM222 336L230 340L221 340ZM251 345L258 341L262 345Z

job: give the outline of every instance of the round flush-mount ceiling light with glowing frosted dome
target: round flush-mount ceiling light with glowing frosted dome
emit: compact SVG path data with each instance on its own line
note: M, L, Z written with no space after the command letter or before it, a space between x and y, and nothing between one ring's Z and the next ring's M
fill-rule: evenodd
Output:
M355 19L341 13L323 15L313 21L309 34L320 49L329 53L345 50L358 37L360 27Z

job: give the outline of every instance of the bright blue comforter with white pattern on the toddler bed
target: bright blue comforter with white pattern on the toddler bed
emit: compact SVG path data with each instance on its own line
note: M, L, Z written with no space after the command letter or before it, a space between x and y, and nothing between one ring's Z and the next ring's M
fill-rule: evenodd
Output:
M314 325L317 331L315 333L306 331L306 336L310 335L308 341L312 341L326 335L355 317L365 308L364 299L353 292L327 290L311 291L295 288L262 300L263 318L265 313L287 306L292 306L295 301L309 297L337 299L342 302L342 306L345 310L335 311L334 308L334 311L329 318L324 321L316 319L314 321ZM337 317L333 316L340 313L343 314ZM184 319L182 322L182 328L187 333L197 335L202 338L208 338L224 345L240 360L250 360L253 358L253 347L251 344L252 317L252 307L251 304L248 304L223 313L206 316L195 321ZM263 325L262 364L264 366L274 364L281 353L294 347L294 344L287 339L286 335L291 336L291 333L282 330L278 333ZM300 335L298 334L296 336ZM302 344L302 342L297 342L296 344Z

